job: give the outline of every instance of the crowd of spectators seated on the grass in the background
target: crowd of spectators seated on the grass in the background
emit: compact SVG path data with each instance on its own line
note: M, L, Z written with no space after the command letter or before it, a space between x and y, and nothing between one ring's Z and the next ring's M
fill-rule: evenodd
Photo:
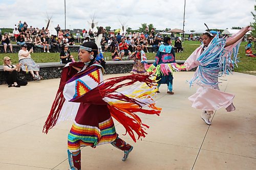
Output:
M59 25L57 25L55 29L57 31L56 35L51 34L48 28L42 27L39 29L34 28L33 26L29 27L26 21L19 21L18 24L14 26L12 35L8 33L1 35L0 32L0 41L2 41L1 44L4 45L4 53L7 53L7 46L10 47L10 52L12 53L12 43L10 42L11 36L14 36L17 45L26 44L28 46L28 50L34 46L38 46L43 48L45 53L50 53L50 48L52 49L51 52L60 52L64 45L75 45L75 38L77 39L77 42L81 44L83 42L90 41L97 34L96 32L93 33L90 29L83 29L82 32L77 31L76 35L73 35L70 33L69 29L62 30ZM175 46L179 48L177 52L181 52L182 47L179 37L176 37L176 34L172 36L175 37ZM145 52L148 52L148 46L152 46L153 52L156 52L160 44L163 43L163 38L164 37L161 34L155 33L154 28L149 30L146 27L144 32L129 33L120 31L107 32L104 29L100 45L102 52L109 48L110 52L114 53L115 47L118 47L119 53L122 50L125 51L124 55L128 55L128 51L136 51L138 44L142 46L142 50ZM123 46L122 39L124 39L125 43Z

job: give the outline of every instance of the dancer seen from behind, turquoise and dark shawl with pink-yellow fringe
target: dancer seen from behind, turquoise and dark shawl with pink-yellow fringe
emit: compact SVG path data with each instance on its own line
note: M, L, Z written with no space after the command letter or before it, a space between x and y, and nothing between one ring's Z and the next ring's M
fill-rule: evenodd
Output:
M168 94L174 94L173 92L173 73L174 71L180 71L185 69L184 65L178 65L175 61L175 53L172 45L170 45L170 37L164 38L164 44L159 46L159 50L156 55L156 61L149 66L146 70L148 72L154 72L157 76L156 81L158 83L158 91L161 84L167 84Z

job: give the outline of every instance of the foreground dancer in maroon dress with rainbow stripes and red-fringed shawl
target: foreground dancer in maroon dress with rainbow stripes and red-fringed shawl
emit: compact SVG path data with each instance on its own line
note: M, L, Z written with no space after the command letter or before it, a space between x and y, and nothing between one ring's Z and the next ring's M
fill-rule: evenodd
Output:
M95 61L97 52L94 42L84 42L79 52L82 62L68 63L63 68L59 89L43 130L48 133L57 122L73 117L68 135L68 158L72 170L81 169L82 146L95 148L111 143L124 152L122 160L127 159L133 147L118 137L112 117L136 142L135 133L138 139L145 137L144 129L148 126L142 124L135 113L159 115L161 112L152 99L156 89L149 76L130 75L103 82L102 66ZM116 91L135 82L143 82L143 85L135 85L123 93ZM142 108L146 106L148 109Z

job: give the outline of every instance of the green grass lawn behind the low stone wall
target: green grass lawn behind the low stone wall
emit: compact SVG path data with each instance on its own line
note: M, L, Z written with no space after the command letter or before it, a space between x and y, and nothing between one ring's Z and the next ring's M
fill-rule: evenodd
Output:
M176 53L176 60L186 60L191 53L199 46L199 41L184 41L182 43L184 53ZM238 67L234 71L243 72L246 74L256 75L256 58L245 56L245 45L247 42L242 42L239 48L239 59ZM78 54L71 53L77 60ZM104 53L104 57L108 57L111 60L111 53ZM154 60L156 53L146 53L148 60ZM12 63L18 63L18 54L0 54L0 64L3 65L3 58L8 56L12 59ZM45 62L59 62L59 53L32 53L33 60L37 63Z

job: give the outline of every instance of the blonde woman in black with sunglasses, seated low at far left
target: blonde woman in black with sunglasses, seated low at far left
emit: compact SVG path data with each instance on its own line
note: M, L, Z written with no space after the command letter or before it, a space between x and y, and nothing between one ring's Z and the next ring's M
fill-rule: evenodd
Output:
M4 75L8 87L20 87L28 84L27 81L18 79L17 72L20 71L20 65L22 64L12 65L11 59L4 57Z

